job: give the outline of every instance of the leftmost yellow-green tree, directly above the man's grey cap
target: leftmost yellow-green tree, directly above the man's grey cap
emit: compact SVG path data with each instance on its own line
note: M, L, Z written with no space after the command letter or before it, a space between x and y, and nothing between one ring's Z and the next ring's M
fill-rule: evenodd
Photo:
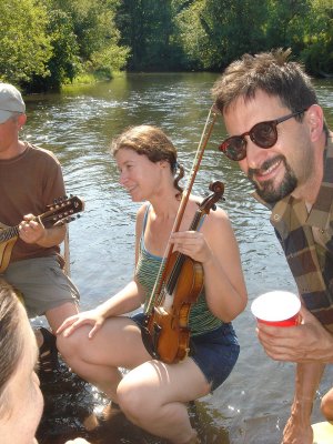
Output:
M50 74L52 56L47 9L38 0L0 2L0 79L16 84Z

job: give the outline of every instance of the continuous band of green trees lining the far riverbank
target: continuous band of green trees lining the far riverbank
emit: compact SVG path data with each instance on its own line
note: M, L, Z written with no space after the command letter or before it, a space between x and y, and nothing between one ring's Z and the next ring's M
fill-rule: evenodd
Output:
M333 73L332 0L1 0L0 80L59 89L82 73L221 70L292 48Z

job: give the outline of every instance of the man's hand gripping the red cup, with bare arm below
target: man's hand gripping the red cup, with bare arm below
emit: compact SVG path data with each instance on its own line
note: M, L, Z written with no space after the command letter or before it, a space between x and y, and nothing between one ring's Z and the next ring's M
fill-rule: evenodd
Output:
M312 444L311 411L324 364L333 362L333 335L304 307L302 324L274 327L258 324L258 337L269 356L296 362L295 395L282 444Z

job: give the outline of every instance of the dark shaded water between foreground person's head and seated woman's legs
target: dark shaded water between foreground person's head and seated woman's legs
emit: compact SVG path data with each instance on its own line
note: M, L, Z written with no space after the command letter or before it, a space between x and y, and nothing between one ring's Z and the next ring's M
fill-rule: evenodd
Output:
M78 436L92 444L164 444L131 424L119 408L103 420L108 400L63 363L60 371L41 377L41 390L44 412L37 433L39 444L63 444Z

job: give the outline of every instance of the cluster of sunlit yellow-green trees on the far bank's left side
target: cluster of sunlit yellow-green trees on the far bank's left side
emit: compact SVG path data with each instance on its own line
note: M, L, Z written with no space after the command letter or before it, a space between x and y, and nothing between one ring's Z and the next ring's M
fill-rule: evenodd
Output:
M111 78L125 64L114 24L119 0L2 0L0 78L60 89L82 72Z

